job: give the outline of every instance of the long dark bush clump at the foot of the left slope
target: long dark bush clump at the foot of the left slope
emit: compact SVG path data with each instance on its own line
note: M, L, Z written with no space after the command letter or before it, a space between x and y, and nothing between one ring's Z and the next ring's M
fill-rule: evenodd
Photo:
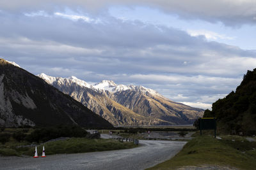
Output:
M46 127L31 132L26 137L26 141L40 143L60 137L83 138L86 137L87 133L84 129L77 126Z

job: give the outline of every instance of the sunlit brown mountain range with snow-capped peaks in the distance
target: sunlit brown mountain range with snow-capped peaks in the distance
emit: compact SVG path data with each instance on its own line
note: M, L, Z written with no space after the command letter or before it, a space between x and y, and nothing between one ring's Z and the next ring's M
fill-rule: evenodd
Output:
M204 113L202 109L175 103L142 86L116 85L108 80L90 85L74 76L55 78L44 73L38 76L113 125L193 124Z

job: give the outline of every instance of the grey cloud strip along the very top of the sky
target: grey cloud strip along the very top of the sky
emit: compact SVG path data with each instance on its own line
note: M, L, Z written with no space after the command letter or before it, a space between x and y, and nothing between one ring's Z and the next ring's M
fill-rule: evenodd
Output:
M64 11L68 7L72 10L98 13L100 10L107 10L108 6L111 5L149 6L169 14L178 15L184 20L200 19L208 22L222 22L232 27L256 23L256 1L254 0L12 0L0 1L0 10L17 13L45 10L52 13L56 10Z

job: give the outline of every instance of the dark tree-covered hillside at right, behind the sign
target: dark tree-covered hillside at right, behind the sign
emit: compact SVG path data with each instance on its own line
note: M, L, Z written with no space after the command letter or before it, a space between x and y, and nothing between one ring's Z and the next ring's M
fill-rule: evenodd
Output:
M218 118L223 132L256 134L256 69L247 71L236 92L213 103L212 111L206 110L204 117Z

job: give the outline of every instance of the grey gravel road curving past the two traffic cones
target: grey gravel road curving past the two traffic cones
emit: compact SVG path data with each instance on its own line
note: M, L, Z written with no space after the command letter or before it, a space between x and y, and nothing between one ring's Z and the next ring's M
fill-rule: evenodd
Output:
M127 150L47 155L45 158L0 157L0 169L145 169L172 158L186 142L146 141Z

